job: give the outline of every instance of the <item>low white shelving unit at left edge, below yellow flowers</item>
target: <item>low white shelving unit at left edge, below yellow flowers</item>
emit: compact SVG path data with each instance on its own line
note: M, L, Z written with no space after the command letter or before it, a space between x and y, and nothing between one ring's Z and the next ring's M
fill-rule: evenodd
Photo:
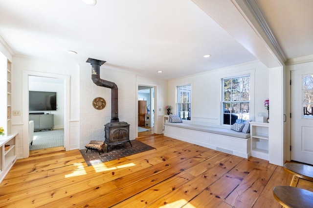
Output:
M16 162L16 135L0 136L0 183ZM5 145L10 145L8 150L5 150Z

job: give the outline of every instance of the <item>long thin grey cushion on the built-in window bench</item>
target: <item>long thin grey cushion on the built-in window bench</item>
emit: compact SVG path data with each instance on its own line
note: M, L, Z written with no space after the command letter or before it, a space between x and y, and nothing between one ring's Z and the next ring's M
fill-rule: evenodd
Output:
M249 133L235 132L231 129L224 129L224 128L218 128L218 127L201 126L201 125L187 124L187 123L164 123L164 125L190 129L190 130L195 130L195 131L200 131L200 132L209 132L209 133L221 134L221 135L226 135L226 136L233 136L233 137L244 138L244 139L250 137Z

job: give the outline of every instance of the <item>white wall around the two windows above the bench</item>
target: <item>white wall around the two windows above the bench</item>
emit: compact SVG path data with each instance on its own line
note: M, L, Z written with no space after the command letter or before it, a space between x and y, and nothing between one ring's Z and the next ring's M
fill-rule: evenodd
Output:
M221 79L250 73L250 119L256 115L267 117L264 100L268 99L268 68L259 61L227 67L198 75L173 79L168 84L168 104L176 112L176 86L192 85L191 121L194 124L221 125ZM186 121L188 122L188 121Z

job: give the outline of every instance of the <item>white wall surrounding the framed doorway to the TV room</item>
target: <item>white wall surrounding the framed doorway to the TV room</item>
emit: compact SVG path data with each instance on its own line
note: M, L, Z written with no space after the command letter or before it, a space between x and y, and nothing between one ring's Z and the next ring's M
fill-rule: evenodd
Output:
M28 111L23 112L23 108L28 106L23 100L22 88L23 72L31 72L31 74L41 74L44 75L55 75L55 76L69 76L70 84L68 85L70 90L69 93L69 117L65 118L68 126L71 126L69 131L65 132L65 140L68 142L68 149L78 149L79 138L78 134L75 134L75 126L70 124L71 122L78 122L79 120L79 68L77 64L73 63L63 63L63 62L51 62L46 60L26 58L26 57L13 57L12 64L12 111L21 111L20 116L12 116L12 132L19 132L19 137L17 141L17 155L18 158L27 157L28 149L26 144L28 141L27 132L25 132L24 125L28 126ZM26 86L28 88L28 86ZM26 89L28 92L28 89ZM27 101L28 102L28 101ZM28 128L27 128L28 129ZM77 129L76 129L77 131ZM23 138L24 137L24 138ZM68 150L67 149L67 150Z

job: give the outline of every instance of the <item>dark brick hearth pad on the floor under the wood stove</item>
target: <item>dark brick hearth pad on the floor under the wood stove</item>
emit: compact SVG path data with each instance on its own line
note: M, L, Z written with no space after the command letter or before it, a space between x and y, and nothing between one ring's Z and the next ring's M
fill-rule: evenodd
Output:
M104 153L101 152L99 155L98 151L86 152L87 149L80 150L81 154L84 157L85 162L88 166L92 166L99 163L108 162L111 160L119 159L143 151L153 150L154 147L146 145L145 143L139 142L138 140L131 140L133 147L130 143L124 143L120 145L110 146L109 152L107 153L107 146L103 149Z

